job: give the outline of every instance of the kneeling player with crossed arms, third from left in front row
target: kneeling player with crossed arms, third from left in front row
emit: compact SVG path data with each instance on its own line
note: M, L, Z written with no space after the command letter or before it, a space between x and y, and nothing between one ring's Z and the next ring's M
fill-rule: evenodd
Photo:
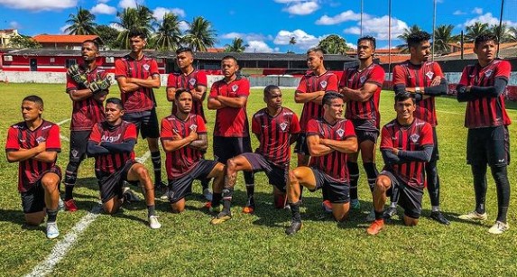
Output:
M169 178L168 197L173 212L185 209L185 197L192 192L194 180L214 178L212 182L212 207L221 202L225 166L216 161L201 159L208 148L207 127L199 115L190 114L192 94L180 88L174 94L174 115L162 119L162 146L167 152L165 160Z

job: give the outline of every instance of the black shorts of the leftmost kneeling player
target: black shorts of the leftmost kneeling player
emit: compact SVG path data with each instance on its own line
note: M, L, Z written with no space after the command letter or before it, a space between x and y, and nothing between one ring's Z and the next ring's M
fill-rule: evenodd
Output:
M43 189L42 177L47 173L58 174L60 177L58 184L61 182L60 167L55 166L48 171L43 171L40 179L36 180L34 185L32 185L32 188L20 194L22 197L23 213L32 214L41 212L45 208L45 189Z

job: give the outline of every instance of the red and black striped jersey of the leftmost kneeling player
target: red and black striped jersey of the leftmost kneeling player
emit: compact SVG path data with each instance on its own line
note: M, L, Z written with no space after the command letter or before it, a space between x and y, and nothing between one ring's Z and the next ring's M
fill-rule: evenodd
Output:
M34 130L29 129L25 122L12 125L7 134L5 152L31 149L45 142L46 151L61 152L60 126L43 120L42 125ZM18 164L18 190L25 192L32 188L42 173L50 171L56 166L56 161L41 162L36 159L27 159Z

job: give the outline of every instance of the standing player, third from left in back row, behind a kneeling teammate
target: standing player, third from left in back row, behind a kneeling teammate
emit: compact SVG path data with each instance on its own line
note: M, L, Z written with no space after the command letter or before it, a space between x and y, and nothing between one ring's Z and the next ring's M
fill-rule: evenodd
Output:
M194 69L194 54L189 48L180 48L176 51L176 64L180 68L180 73L171 73L167 79L167 100L172 102L172 115L176 114L174 99L176 90L183 88L190 91L192 100L190 113L201 116L203 122L207 123L205 112L203 111L203 101L207 95L207 74L198 69ZM212 193L208 189L209 180L201 180L203 196L208 201L212 200Z

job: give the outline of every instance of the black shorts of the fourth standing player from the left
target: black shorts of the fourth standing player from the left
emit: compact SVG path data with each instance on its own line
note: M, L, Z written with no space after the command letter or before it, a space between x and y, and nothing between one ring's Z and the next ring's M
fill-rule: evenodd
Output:
M214 160L226 162L242 153L253 152L249 135L245 137L214 136Z

